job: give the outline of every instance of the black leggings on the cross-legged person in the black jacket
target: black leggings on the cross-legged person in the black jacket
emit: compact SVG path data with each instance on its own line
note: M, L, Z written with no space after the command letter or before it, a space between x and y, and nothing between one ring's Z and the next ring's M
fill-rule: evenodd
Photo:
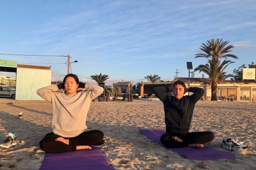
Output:
M178 142L172 137L181 138L183 142ZM178 133L165 133L162 134L160 141L167 147L178 148L178 147L187 147L188 144L205 144L214 139L213 132L210 131L198 131L198 132L187 132L184 134Z

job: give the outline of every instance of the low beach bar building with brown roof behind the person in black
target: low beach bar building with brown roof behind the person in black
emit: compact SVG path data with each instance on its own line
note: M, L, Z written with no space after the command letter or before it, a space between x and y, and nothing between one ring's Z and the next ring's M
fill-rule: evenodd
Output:
M187 81L189 78L175 77L171 82L142 82L139 85L139 96L154 95L152 88L160 86L170 86L172 83L181 80L188 88ZM217 99L218 100L231 100L231 101L251 101L256 102L256 81L237 81L237 80L224 80L217 85ZM199 87L204 89L203 97L206 100L211 100L211 79L209 78L190 78L190 87ZM187 93L188 94L188 93ZM185 94L185 95L187 95ZM190 93L192 94L192 93Z

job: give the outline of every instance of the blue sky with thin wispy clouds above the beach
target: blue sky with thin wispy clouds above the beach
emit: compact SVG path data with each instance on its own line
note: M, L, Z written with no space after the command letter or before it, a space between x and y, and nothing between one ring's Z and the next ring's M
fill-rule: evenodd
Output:
M256 63L256 2L227 1L2 1L0 53L67 55L72 73L107 74L108 84L158 74L188 77L186 61L211 38L235 45L228 73ZM2 60L51 66L53 80L66 74L65 57L0 55ZM36 64L49 63L49 64ZM15 77L13 73L3 73ZM196 72L196 77L201 74ZM81 81L94 81L79 77Z

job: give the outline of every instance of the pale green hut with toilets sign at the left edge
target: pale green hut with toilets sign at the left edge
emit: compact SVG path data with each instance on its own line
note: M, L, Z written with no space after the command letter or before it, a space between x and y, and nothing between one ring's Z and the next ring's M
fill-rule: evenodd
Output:
M49 66L31 66L0 60L0 71L16 73L15 100L44 100L37 95L37 90L51 85Z

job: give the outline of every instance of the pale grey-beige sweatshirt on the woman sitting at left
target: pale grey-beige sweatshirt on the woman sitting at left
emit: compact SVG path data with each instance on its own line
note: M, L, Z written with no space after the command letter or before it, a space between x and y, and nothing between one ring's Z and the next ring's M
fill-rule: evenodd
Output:
M98 97L103 88L98 85L82 85L88 90L74 95L56 92L61 85L49 85L37 90L40 97L53 104L52 128L55 134L71 138L87 129L85 122L91 100ZM79 86L81 87L81 82Z

